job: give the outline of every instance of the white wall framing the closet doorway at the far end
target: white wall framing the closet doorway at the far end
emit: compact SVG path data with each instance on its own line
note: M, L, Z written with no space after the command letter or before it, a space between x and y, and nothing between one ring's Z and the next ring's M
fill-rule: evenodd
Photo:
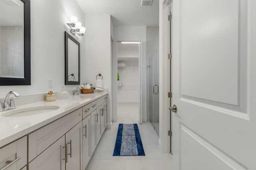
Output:
M114 26L112 117L117 121L117 41L142 40L142 121L146 121L146 26Z

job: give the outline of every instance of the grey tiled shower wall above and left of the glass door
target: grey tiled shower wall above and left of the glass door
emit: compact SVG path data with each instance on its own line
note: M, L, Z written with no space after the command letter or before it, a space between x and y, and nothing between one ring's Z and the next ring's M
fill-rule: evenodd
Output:
M149 82L149 58L154 52L159 49L159 26L147 26L146 27L146 62L147 62L147 121L149 121L150 115L150 82Z

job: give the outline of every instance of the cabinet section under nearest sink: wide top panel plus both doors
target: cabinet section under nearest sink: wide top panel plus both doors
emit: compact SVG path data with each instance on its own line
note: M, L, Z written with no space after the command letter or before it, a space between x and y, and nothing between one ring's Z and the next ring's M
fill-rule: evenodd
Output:
M82 108L30 133L28 135L29 169L80 170L81 121ZM78 164L73 166L73 162Z

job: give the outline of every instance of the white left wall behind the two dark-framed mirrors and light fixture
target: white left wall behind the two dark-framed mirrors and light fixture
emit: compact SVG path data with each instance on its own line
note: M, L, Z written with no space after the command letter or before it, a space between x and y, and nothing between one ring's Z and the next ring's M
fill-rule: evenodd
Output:
M31 0L31 86L1 86L0 98L14 90L20 95L60 91L64 85L64 31L70 16L85 24L85 15L76 0ZM72 35L73 36L73 35ZM80 81L85 82L85 37L73 36L80 42ZM52 79L52 88L48 88ZM77 85L66 85L73 90Z

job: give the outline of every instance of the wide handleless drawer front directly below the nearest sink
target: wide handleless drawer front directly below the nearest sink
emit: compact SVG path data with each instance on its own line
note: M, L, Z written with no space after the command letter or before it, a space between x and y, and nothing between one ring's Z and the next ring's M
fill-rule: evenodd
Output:
M82 121L82 108L28 135L28 162Z

